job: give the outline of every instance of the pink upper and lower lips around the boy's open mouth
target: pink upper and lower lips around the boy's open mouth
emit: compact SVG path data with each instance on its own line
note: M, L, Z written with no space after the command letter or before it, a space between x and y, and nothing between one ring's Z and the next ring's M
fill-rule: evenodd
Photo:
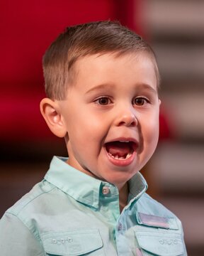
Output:
M110 154L108 154L108 152L106 151L106 155L108 156L108 160L111 161L111 164L114 164L115 166L129 166L130 164L132 164L132 161L134 161L134 159L135 159L136 150L138 147L138 142L135 138L118 137L118 138L110 140L106 143L109 143L109 142L132 142L133 152L132 152L132 155L128 159L115 159ZM105 143L105 145L106 145L106 143Z

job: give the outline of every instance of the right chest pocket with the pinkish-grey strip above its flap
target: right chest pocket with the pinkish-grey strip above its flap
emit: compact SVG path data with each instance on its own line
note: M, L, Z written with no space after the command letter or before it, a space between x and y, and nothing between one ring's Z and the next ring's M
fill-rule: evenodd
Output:
M142 255L181 256L184 254L182 231L175 218L139 213L135 236Z

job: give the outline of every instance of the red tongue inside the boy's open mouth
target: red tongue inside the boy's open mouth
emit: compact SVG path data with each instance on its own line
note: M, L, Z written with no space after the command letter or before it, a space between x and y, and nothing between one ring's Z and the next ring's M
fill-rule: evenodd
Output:
M130 144L127 142L109 142L106 144L106 150L108 153L111 153L113 156L118 155L126 156L128 153L130 153L131 148Z

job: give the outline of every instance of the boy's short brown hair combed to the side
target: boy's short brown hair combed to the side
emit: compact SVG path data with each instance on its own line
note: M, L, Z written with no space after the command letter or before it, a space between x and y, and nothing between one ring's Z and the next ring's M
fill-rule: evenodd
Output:
M73 80L73 65L86 55L145 51L154 62L159 86L157 61L149 44L118 21L97 21L66 28L50 45L43 57L47 97L63 100Z

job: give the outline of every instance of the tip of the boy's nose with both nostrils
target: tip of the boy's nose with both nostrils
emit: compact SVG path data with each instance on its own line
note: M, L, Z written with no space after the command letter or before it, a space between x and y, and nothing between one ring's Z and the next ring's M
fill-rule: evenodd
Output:
M126 110L125 112L118 113L118 119L116 121L117 126L127 126L127 127L136 127L137 126L137 117L135 113L131 110Z

